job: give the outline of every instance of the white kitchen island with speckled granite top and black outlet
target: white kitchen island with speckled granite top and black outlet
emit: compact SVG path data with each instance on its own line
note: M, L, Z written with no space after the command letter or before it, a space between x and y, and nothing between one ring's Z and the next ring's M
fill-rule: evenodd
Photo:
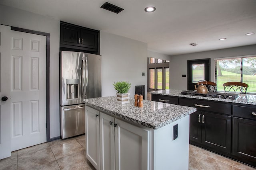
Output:
M86 157L97 170L188 169L189 114L194 107L116 96L84 100Z

